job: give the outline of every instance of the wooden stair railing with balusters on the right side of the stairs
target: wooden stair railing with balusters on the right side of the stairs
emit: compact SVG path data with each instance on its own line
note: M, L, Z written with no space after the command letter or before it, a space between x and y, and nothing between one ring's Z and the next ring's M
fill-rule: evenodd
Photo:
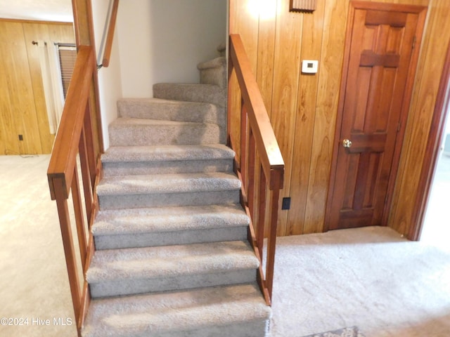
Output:
M241 202L250 216L249 240L261 262L264 255L264 228L268 229L266 269L264 272L261 264L258 270L258 282L267 304L270 305L274 283L278 199L280 190L283 189L284 161L251 69L240 35L231 34L229 88L234 71L238 79L241 102L240 156L236 155L235 157L235 171L243 183ZM233 148L231 139L232 95L233 93L229 90L227 133L228 143ZM259 161L257 161L257 156L259 156ZM259 183L257 184L255 184L255 169L259 169ZM255 185L257 185L256 188ZM268 203L266 203L267 200Z

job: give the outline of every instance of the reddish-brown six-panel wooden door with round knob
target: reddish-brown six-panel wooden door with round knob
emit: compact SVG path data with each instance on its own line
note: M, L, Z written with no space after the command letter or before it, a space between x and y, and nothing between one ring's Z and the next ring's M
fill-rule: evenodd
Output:
M422 6L351 2L329 230L387 220L424 17Z

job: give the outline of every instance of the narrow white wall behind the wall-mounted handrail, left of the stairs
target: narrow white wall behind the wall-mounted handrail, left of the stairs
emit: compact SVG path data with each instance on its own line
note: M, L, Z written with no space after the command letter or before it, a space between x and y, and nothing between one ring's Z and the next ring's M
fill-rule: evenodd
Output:
M92 2L92 16L94 20L94 36L97 55L100 53L103 29L108 13L110 0L95 0ZM123 3L124 1L122 1ZM100 61L101 62L101 61ZM113 40L110 65L98 70L98 91L100 95L100 110L103 130L103 145L109 147L108 125L117 118L117 100L122 98L122 79L120 77L120 55L117 30Z

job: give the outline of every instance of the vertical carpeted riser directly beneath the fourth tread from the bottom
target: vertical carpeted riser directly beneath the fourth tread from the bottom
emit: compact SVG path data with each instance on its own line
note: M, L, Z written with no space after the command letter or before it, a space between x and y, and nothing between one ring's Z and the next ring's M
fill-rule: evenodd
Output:
M100 209L136 209L163 206L200 206L213 204L237 204L238 190L217 192L190 192L167 194L129 194L98 196Z

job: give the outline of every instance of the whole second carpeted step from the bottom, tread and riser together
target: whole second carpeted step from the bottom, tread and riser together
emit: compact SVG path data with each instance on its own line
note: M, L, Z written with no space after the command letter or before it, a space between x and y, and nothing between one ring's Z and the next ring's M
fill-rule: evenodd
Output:
M255 282L259 260L248 242L212 242L95 251L86 273L91 296Z

